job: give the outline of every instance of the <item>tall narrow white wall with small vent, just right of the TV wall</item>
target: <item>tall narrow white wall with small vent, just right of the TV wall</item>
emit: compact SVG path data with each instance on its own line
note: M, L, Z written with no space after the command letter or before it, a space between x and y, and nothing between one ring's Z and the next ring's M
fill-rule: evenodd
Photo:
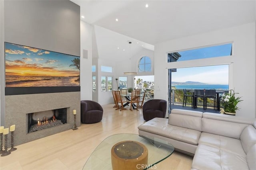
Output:
M92 100L92 25L80 21L81 57L80 57L80 86L81 100ZM88 58L83 56L83 50L88 51Z

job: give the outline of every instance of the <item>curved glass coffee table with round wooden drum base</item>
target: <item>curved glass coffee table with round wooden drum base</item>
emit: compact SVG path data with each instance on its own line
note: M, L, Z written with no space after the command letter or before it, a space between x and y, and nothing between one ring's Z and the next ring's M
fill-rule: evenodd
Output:
M156 168L174 147L162 139L136 134L107 137L92 152L83 170L143 170ZM168 167L166 167L168 168Z

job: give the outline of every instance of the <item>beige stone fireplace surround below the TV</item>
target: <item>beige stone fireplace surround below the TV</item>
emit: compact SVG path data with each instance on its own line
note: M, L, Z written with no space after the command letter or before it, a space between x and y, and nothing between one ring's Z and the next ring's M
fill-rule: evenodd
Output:
M27 114L38 111L67 108L67 123L28 133ZM76 109L76 125L80 126L80 92L25 94L5 96L5 127L16 125L14 144L20 145L36 139L72 129L73 110Z

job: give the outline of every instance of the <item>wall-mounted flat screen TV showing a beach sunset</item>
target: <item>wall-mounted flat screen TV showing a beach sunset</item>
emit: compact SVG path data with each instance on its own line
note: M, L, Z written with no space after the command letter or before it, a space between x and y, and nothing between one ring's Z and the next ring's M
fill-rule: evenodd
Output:
M80 91L80 57L5 42L5 94Z

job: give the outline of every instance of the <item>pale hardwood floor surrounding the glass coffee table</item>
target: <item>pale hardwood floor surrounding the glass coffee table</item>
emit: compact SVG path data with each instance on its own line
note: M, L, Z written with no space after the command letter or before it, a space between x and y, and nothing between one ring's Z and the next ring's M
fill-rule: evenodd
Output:
M94 149L106 137L117 133L138 134L138 125L144 123L142 109L115 110L113 104L102 106L102 121L82 124L72 129L15 146L17 150L0 157L0 170L82 170ZM15 139L17 140L17 139ZM158 163L158 170L190 170L192 157L174 152Z

